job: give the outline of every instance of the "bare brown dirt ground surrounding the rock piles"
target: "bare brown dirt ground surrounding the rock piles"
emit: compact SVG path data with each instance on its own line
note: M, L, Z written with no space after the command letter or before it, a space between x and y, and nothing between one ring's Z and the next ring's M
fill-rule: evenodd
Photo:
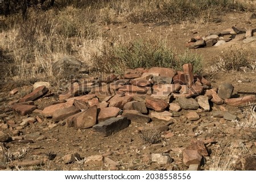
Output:
M102 28L102 31L104 31L105 39L110 42L155 37L155 39L167 41L168 45L179 52L186 50L185 43L196 35L206 36L210 32L222 31L234 25L247 29L256 28L256 19L250 19L250 15L251 13L230 13L221 15L219 23L189 24L184 22L182 24L171 24L170 26L154 28L151 28L154 23L114 24L108 26L109 29ZM196 29L198 33L193 35L192 29ZM110 36L116 39L108 40ZM256 43L243 44L240 40L232 40L218 47L200 48L192 51L202 54L205 61L204 69L209 71L209 65L214 65L214 62L218 61L218 56L221 56L222 53L227 50L238 50L245 47L256 50ZM246 73L245 71L230 71L229 73L220 71L209 79L213 87L218 87L223 82L233 84L235 94L239 94L239 92L256 93L255 70ZM24 87L23 89L25 90L32 88L32 86ZM9 92L1 92L0 98L2 98L0 101L1 130L9 130L11 133L16 129L15 127L10 127L10 125L7 126L8 129L4 129L6 122L9 121L10 124L11 121L14 121L15 124L19 124L22 122L22 118L27 117L21 117L14 111L6 110L9 107L7 103L19 99L20 93L15 96L9 96ZM38 99L35 101L35 104L44 105L56 100L57 97L51 96ZM213 111L221 111L223 108L238 116L240 120L237 122L223 121L221 118L212 117ZM52 159L47 160L42 166L18 167L7 164L7 170L187 170L187 167L182 162L182 150L190 145L192 140L201 139L205 141L211 139L211 142L205 142L209 156L205 156L204 162L201 164L201 170L217 170L217 167L222 167L221 170L225 170L224 163L229 161L228 159L236 161L243 158L243 156L249 155L254 156L255 160L255 128L240 126L240 123L245 122L246 117L249 116L249 113L245 112L246 109L248 108L213 104L212 111L199 112L201 118L197 121L181 120L181 116L188 112L183 109L177 113L177 117L174 117L176 121L169 126L169 131L174 135L170 138L163 138L162 142L156 144L143 141L138 127L151 126L155 128L158 125L162 125L159 122L150 122L145 125L132 121L128 128L112 136L102 137L94 132L93 129L77 130L61 124L54 128L48 128L48 122L51 122L51 120L45 118L42 123L35 122L34 124L19 128L20 136L25 139L32 139L33 143L6 142L7 150L2 150L2 152L9 153L10 158L13 156L11 160ZM30 115L30 117L34 116L36 116L34 113ZM165 133L161 134L164 136ZM18 152L16 153L17 156L15 156L15 152ZM92 155L109 156L109 158L118 162L120 166L111 168L104 162L84 164L84 160L78 160L71 164L64 164L62 162L64 155L75 152L79 153L84 160ZM166 165L151 162L152 153L167 153L173 161ZM55 155L55 158L52 157ZM221 163L218 159L221 159ZM232 166L233 164L230 163L229 165ZM237 170L245 169L238 164L234 168Z

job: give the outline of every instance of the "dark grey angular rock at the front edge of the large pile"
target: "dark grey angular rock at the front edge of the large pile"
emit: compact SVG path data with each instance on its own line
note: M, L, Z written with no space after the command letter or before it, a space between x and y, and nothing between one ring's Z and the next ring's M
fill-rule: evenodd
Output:
M102 133L104 136L110 136L111 134L127 128L130 124L131 121L128 120L127 117L113 117L94 125L93 129L96 132Z

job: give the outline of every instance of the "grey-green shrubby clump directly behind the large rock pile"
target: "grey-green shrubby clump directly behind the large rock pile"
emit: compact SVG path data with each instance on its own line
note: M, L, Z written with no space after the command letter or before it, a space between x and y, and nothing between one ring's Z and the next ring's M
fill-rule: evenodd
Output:
M105 72L115 71L123 74L125 69L137 67L169 67L183 70L187 63L193 64L194 72L201 73L203 58L187 50L176 54L172 49L156 40L134 40L127 44L113 45L101 50L101 54L93 54L93 62Z

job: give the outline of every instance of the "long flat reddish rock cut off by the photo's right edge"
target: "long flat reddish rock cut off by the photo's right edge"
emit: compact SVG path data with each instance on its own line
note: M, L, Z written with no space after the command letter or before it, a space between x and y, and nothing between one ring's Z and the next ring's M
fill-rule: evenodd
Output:
M232 106L250 105L256 103L255 95L246 95L241 98L225 99L225 103Z

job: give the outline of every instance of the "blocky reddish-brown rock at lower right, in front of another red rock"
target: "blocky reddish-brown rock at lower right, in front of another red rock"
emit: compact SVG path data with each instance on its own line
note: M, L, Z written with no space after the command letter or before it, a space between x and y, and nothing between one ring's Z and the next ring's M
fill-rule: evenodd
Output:
M187 167L191 164L200 164L203 158L197 150L183 150L183 164Z

